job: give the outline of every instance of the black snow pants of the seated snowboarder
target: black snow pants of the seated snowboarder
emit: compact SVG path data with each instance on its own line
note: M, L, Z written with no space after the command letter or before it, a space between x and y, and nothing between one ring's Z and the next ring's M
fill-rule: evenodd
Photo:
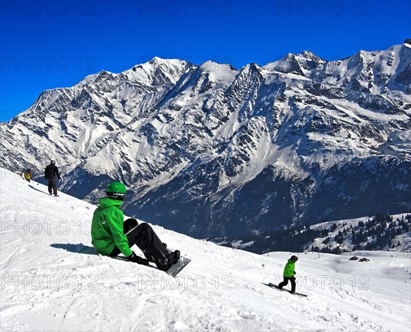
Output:
M124 223L125 231L126 227L129 228L127 221L128 220L125 220ZM157 234L154 233L149 224L143 222L129 231L125 236L129 242L129 248L136 244L149 261L152 261L157 266L163 265L164 258L169 254L169 251L167 250L166 245L158 238ZM114 247L110 256L116 256L119 255L119 253L121 253L120 249Z

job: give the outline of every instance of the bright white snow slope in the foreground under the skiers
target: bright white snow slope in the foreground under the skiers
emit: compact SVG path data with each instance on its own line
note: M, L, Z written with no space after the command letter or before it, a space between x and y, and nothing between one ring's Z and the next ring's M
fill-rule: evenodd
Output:
M410 253L355 253L363 263L298 253L303 298L262 284L282 280L292 253L260 256L153 226L192 260L174 279L97 255L94 205L3 169L0 188L1 331L410 331Z

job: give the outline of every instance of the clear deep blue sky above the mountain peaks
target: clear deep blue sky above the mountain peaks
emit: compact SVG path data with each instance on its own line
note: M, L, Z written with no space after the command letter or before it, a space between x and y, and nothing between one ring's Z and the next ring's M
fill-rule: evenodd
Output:
M154 56L264 65L310 50L325 60L411 38L411 1L1 1L0 121L46 89Z

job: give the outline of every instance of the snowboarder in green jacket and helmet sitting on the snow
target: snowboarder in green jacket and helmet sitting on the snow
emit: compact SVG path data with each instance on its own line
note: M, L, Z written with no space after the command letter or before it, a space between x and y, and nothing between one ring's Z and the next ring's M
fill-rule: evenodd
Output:
M96 250L108 256L123 253L129 261L149 265L155 263L160 270L168 270L179 260L179 251L170 253L147 223L134 218L125 221L121 205L125 197L125 186L121 182L110 183L107 197L99 200L99 207L92 216L91 238ZM134 244L140 248L147 259L139 257L130 249Z

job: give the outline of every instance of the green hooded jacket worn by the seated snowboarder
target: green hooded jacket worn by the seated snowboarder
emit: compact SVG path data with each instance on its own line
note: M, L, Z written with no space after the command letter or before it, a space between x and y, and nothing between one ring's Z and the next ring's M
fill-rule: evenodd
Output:
M122 201L104 197L92 215L91 243L103 255L110 255L115 246L125 257L132 255L128 240L123 232L124 215L120 209Z

